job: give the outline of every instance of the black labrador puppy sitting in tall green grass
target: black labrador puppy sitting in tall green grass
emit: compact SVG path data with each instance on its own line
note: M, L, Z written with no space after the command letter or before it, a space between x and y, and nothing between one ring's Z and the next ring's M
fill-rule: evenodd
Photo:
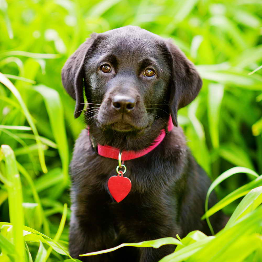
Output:
M177 124L177 111L201 88L194 65L173 45L149 31L125 26L92 34L62 69L62 82L76 100L75 117L88 108L88 128L77 139L70 164L72 217L69 251L82 261L156 262L173 245L121 248L112 253L79 254L162 237L181 238L193 230L210 234L204 202L210 180L188 149ZM168 119L173 129L168 131ZM161 130L162 142L149 150ZM118 161L97 154L98 146L147 153L125 161L130 193L119 203L108 190ZM121 172L120 172L121 173ZM121 173L122 174L122 173ZM122 174L123 176L123 174ZM210 197L210 206L216 202ZM221 212L211 217L222 229Z

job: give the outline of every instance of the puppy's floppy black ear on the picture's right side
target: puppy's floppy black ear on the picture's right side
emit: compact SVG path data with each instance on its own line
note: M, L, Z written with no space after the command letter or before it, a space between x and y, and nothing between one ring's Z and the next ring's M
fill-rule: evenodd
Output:
M177 126L177 111L192 102L198 95L202 80L192 62L175 46L171 40L167 42L171 53L171 94L169 109L173 124Z

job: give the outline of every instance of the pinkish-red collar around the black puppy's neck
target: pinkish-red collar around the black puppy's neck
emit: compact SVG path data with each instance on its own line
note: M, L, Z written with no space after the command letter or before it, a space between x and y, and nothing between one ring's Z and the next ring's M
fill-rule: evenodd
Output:
M173 129L174 125L171 119L171 116L169 117L168 120L168 125L167 125L167 130L168 132L170 132ZM161 133L159 134L159 136L155 139L154 143L149 146L148 148L139 150L139 151L122 151L122 160L131 160L131 159L135 159L138 158L140 156L144 156L147 153L149 153L150 151L152 151L153 149L155 149L165 138L166 136L166 131L165 129L161 130ZM108 158L113 158L113 159L118 159L118 154L119 154L119 149L114 148L112 146L108 146L108 145L100 145L97 144L97 151L98 154L100 156L104 156L104 157L108 157Z

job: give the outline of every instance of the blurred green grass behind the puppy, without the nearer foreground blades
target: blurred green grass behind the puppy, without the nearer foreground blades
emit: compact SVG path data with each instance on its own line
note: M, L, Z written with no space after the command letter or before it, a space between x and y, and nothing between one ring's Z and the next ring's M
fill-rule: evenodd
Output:
M92 32L124 25L173 39L197 65L203 88L178 121L210 178L234 166L261 174L261 17L260 0L0 0L0 82L8 78L18 91L0 84L0 145L10 145L18 161L25 225L54 237L63 204L70 206L68 165L84 123L73 118L63 64ZM230 177L217 187L219 198L249 179ZM9 222L8 189L0 186L0 221ZM232 214L236 202L224 211ZM69 217L70 210L62 240Z

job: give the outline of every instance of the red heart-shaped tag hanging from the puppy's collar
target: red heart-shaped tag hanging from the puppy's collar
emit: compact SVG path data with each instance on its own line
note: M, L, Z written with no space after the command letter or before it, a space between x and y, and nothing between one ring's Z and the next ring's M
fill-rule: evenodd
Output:
M123 176L123 172L117 176L112 176L108 179L107 186L110 194L119 203L122 201L131 190L131 180L128 177Z

